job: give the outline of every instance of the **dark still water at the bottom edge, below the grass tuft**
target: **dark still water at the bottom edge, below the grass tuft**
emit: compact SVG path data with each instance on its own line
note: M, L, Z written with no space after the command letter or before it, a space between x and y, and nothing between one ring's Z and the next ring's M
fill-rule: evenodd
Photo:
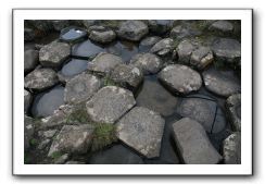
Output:
M141 157L123 145L115 145L106 150L96 152L90 164L143 164Z

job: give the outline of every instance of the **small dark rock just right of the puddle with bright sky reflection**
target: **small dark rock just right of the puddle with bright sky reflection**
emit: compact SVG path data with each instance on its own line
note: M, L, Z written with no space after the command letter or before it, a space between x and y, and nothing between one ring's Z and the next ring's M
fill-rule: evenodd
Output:
M113 41L116 38L116 34L113 30L91 30L89 38L96 42L106 44Z

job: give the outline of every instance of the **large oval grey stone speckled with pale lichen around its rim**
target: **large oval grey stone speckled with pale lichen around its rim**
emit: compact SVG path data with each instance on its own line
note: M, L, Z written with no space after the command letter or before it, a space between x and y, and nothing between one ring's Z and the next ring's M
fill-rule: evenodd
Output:
M184 95L199 90L202 85L200 74L181 64L167 65L159 73L159 79L169 90Z

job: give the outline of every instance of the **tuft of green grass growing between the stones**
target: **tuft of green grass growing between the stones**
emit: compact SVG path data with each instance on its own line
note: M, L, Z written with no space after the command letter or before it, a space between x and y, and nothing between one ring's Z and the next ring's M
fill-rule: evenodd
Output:
M110 123L94 123L91 150L97 151L117 142L116 127Z

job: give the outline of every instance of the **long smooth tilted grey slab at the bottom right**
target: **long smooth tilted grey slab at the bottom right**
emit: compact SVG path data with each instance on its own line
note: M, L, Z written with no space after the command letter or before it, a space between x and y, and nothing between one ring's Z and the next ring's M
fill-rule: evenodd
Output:
M203 126L184 118L173 124L173 135L179 154L187 164L216 164L222 156L207 138Z

